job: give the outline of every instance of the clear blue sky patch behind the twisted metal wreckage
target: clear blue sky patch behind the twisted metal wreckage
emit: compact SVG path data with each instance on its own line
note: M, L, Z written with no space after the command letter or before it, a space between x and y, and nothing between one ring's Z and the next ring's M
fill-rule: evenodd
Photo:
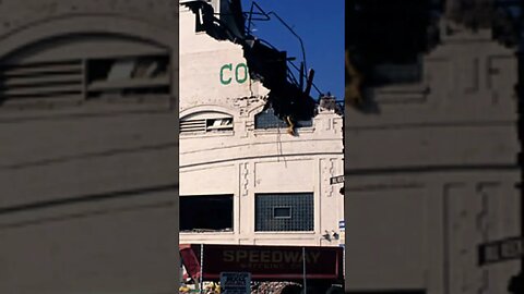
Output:
M302 39L307 66L314 69L313 83L321 91L331 91L337 100L343 100L344 0L242 0L242 10L249 11L253 1L293 27ZM253 35L301 60L298 39L276 19L258 21L254 29ZM311 96L317 98L318 93L312 89Z

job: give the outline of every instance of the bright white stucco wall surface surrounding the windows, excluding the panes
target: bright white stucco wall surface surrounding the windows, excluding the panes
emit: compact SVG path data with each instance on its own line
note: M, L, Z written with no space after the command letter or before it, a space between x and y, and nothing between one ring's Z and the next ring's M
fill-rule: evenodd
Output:
M342 184L330 185L330 177L343 174L343 118L321 110L311 127L298 128L298 136L286 130L255 130L254 115L262 111L269 90L251 78L236 81L236 66L246 64L242 48L195 33L194 14L183 7L180 22L181 121L211 111L234 119L233 131L180 135L180 195L233 195L234 230L182 232L180 242L338 246L343 237L330 242L322 234L340 233L338 221L344 218ZM223 71L221 81L225 64L231 64L233 71ZM229 84L223 83L229 78ZM313 231L255 232L259 193L312 193Z

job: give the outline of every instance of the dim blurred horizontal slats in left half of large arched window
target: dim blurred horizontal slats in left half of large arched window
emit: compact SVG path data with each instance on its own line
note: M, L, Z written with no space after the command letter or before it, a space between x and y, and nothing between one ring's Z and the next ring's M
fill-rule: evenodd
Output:
M0 101L82 97L81 60L2 65Z

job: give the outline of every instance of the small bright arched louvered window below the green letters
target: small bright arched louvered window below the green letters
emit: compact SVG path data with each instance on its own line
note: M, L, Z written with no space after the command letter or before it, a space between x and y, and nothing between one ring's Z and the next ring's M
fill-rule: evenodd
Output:
M180 119L180 134L233 131L233 117L218 111L198 112Z

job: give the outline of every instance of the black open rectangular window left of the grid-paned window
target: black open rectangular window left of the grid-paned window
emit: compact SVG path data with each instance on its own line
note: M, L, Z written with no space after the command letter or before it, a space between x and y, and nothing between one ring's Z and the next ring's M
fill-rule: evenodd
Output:
M180 196L180 231L233 231L233 195Z

